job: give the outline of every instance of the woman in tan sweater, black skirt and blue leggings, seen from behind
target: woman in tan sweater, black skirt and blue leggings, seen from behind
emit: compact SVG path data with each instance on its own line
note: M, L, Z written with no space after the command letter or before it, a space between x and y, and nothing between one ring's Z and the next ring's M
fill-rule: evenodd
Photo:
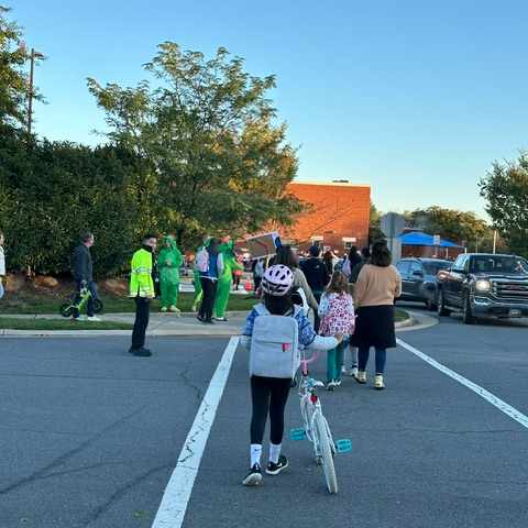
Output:
M359 349L359 372L354 377L360 384L366 383L369 353L371 346L374 346L374 388L377 391L385 388L387 349L396 346L394 298L402 293L402 278L391 262L387 241L374 242L371 261L361 270L353 293L358 319L351 343Z

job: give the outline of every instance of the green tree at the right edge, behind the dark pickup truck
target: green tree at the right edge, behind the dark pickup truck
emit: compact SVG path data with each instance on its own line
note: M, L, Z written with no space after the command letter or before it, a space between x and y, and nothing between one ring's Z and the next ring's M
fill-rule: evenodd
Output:
M517 162L495 162L481 178L486 212L512 253L528 255L528 157L520 151Z

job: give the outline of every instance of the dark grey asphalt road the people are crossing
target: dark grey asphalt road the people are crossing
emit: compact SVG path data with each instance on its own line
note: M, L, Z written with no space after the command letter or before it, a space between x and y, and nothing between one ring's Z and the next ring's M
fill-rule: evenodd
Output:
M453 316L402 328L386 391L374 391L369 376L366 386L346 377L322 393L334 436L354 444L338 455L336 496L310 446L288 438L287 470L256 488L240 484L250 419L243 349L224 369L221 396L202 407L229 337L153 337L147 359L125 352L128 336L2 339L0 526L528 526L527 326L468 327ZM323 377L324 362L311 373ZM216 405L185 516L175 524L175 512L161 525L175 466L188 470L200 451L199 433L186 444L187 436L197 417L206 429ZM299 421L294 389L287 428ZM189 490L190 481L178 486Z

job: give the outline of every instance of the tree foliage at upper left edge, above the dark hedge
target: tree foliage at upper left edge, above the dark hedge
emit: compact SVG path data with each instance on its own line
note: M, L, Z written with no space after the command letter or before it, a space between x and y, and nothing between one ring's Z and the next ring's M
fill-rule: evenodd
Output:
M25 125L30 79L23 68L30 54L22 41L22 28L4 16L9 12L11 8L0 6L0 123ZM35 87L33 99L43 99Z

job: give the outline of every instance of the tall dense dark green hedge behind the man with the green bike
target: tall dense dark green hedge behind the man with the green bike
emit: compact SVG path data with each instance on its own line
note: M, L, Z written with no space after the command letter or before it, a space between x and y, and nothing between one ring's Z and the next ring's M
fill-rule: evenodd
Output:
M97 275L128 267L140 231L130 207L135 165L128 151L28 142L25 131L0 124L0 226L9 270L70 271L86 231L96 233Z

